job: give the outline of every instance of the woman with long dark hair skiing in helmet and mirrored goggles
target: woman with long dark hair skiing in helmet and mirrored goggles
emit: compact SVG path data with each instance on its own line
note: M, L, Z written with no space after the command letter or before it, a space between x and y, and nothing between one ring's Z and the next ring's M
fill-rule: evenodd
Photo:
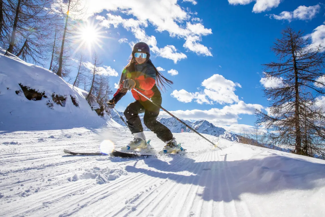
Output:
M152 102L137 93L133 88L143 93L152 101L161 105L162 96L158 89L165 88L164 85L173 84L172 81L165 78L152 64L149 46L144 42L136 43L132 49L132 59L125 66L119 88L113 98L107 102L109 108L114 108L115 104L131 90L136 101L131 102L125 109L124 115L128 128L134 136L126 147L127 149L146 149L147 142L143 133L143 127L138 114L144 113L143 122L148 129L153 131L159 139L166 143L163 148L164 153L175 153L181 151L180 145L177 145L172 132L158 122L160 108ZM158 86L158 87L157 87Z

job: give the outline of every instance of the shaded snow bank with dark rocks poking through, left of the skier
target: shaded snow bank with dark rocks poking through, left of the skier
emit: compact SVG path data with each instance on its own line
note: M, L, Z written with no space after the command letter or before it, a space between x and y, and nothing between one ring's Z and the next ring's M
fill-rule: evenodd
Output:
M0 48L0 130L29 130L31 125L36 130L62 129L63 126L99 127L106 123L85 100L87 92L72 88L47 69L3 53ZM41 100L28 100L22 87L35 89L44 96ZM52 94L63 96L65 102L53 102ZM78 107L73 104L73 98Z

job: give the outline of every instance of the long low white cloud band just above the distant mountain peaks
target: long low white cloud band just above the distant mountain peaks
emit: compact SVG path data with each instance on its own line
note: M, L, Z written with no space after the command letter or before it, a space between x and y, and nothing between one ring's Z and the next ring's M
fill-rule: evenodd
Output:
M237 104L225 106L221 109L212 108L210 110L177 110L171 111L171 113L180 119L186 120L201 120L205 119L216 126L231 127L232 125L238 125L238 119L240 114L254 115L255 108L263 109L259 104L246 104L243 101L239 101ZM162 117L170 117L166 112L160 112Z

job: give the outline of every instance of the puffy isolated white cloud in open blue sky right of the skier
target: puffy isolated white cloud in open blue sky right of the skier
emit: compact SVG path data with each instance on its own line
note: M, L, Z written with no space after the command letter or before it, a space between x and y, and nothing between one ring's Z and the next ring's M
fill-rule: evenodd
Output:
M204 90L201 92L189 93L186 90L174 90L171 96L181 101L183 98L180 95L183 94L184 98L186 98L188 102L195 99L199 104L213 104L214 102L219 104L231 104L234 102L239 102L239 98L234 91L236 90L236 87L241 88L240 84L227 80L222 75L212 75L210 78L205 79L201 85L204 87ZM189 96L192 98L189 98Z

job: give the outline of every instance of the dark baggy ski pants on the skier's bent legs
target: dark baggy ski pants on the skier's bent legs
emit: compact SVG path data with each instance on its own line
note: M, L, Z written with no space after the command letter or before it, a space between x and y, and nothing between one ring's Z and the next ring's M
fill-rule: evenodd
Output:
M152 99L158 104L162 103L161 98ZM163 142L167 142L173 139L172 132L162 123L156 119L159 115L160 108L152 104L149 100L131 102L125 109L124 115L126 123L131 133L139 133L143 131L139 114L144 113L143 122L148 129L153 131L159 139Z

